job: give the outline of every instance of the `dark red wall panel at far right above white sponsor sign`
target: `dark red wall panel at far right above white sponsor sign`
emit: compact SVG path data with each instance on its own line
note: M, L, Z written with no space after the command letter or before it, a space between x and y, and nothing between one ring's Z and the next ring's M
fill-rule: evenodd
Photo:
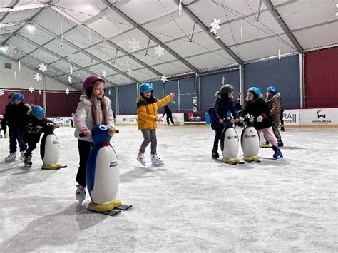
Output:
M338 106L338 47L304 56L304 94L307 107Z

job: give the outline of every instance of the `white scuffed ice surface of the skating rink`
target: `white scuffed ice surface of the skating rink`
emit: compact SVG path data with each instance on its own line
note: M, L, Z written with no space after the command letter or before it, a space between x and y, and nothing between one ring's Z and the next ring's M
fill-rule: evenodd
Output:
M39 146L31 169L6 164L9 139L0 139L0 252L338 251L338 130L286 128L285 158L261 148L261 163L227 165L210 157L210 128L160 126L165 165L143 167L140 131L116 128L117 197L133 207L113 217L86 210L88 194L75 200L73 128L55 132L61 170L40 169ZM146 155L150 163L150 146Z

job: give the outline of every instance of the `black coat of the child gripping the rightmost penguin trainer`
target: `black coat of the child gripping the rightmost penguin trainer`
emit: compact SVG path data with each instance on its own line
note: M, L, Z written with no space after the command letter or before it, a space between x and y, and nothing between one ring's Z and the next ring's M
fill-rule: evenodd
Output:
M244 110L242 110L241 115L242 117L245 117L247 114L254 116L255 119L257 119L258 116L263 117L262 122L255 121L254 123L254 126L257 130L269 128L272 126L271 117L269 115L270 109L263 98L257 98L256 100L247 102L247 105L245 106Z

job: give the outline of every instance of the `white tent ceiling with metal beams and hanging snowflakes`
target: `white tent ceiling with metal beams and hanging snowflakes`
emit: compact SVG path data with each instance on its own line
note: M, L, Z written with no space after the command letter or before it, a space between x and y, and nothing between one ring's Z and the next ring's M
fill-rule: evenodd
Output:
M0 43L17 48L4 57L38 72L37 64L48 64L49 75L66 84L73 66L74 83L106 71L109 86L226 68L278 51L297 53L297 43L303 51L338 44L331 0L183 0L181 14L178 2L84 0L60 6L58 0L3 0ZM210 33L214 18L220 19L217 38ZM159 44L165 48L160 57Z

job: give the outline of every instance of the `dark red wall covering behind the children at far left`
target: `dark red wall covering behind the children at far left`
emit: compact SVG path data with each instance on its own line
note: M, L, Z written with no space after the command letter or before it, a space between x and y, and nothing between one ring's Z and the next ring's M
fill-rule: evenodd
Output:
M7 95L12 91L4 91L0 96L0 114L5 113L8 104ZM39 92L30 93L29 91L15 91L25 97L25 103L43 106L43 94ZM46 92L46 109L48 117L68 117L76 112L76 107L80 101L81 93Z

